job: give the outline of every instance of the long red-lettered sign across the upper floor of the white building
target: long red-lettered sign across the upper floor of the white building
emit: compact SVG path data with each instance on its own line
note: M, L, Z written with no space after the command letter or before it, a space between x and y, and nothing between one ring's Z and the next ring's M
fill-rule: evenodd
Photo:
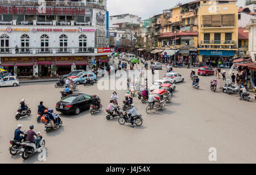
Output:
M58 15L85 15L85 9L81 8L63 8L46 7L46 10L40 10L39 7L0 7L0 14L58 14ZM101 17L99 17L101 18Z

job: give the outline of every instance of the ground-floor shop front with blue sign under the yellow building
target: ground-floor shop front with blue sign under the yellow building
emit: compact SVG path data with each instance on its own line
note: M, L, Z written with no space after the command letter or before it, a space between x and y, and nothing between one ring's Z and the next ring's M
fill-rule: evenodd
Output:
M199 61L201 65L220 66L230 68L233 64L233 57L236 51L230 50L200 50Z

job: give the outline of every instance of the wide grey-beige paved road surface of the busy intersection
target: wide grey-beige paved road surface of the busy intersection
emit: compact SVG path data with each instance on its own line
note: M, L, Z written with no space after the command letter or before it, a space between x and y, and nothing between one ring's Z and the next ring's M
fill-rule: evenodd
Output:
M55 110L60 91L55 82L20 84L0 88L1 127L0 163L255 163L256 162L256 102L240 101L236 95L209 89L213 76L200 76L200 89L191 87L191 69L175 68L184 82L176 84L172 103L166 110L146 114L146 105L134 98L134 105L144 120L141 127L120 125L118 118L106 120L105 109L113 90L98 90L79 85L79 91L97 94L102 101L101 113L63 115L63 126L48 132L36 122L40 101ZM160 78L166 69L160 71ZM221 81L221 80L218 80ZM126 90L117 90L121 105ZM21 99L32 110L31 116L15 119ZM28 130L34 124L46 140L46 159L38 154L23 160L11 156L9 140L22 124ZM209 148L216 148L217 161L209 161Z

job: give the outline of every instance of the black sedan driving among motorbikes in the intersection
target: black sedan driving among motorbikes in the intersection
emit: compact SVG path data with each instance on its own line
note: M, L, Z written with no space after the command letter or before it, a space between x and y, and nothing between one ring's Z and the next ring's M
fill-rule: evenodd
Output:
M80 114L81 111L96 105L96 98L88 94L72 94L56 103L56 111L63 114Z

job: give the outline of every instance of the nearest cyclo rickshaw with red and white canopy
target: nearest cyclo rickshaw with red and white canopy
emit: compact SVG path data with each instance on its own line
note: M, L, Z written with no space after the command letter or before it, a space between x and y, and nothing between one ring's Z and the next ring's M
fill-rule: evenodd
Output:
M166 100L163 98L163 94L168 93L167 90L164 89L156 89L154 91L151 91L152 94L154 94L155 98L158 100L154 105L153 103L149 103L146 107L146 113L150 114L152 110L160 109L164 110L164 107L166 106L166 103L164 103Z

